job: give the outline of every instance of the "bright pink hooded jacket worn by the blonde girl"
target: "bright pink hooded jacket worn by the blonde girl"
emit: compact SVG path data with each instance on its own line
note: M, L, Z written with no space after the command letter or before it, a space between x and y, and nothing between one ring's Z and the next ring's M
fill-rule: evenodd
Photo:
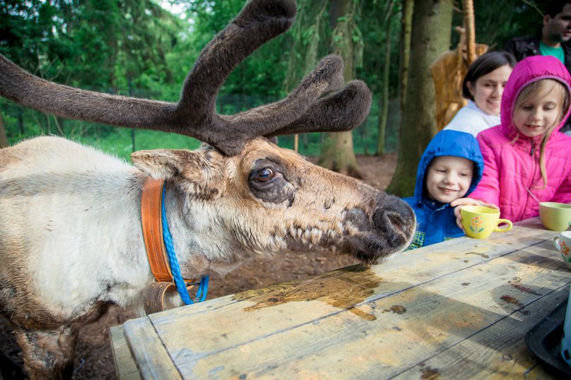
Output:
M526 85L552 78L571 94L571 77L561 62L549 56L520 61L509 76L502 96L502 124L478 133L484 157L484 175L470 198L500 207L502 218L517 222L539 215L539 202L571 203L571 136L559 130L570 110L547 142L545 165L547 186L543 187L539 167L541 136L521 135L512 124L517 97Z

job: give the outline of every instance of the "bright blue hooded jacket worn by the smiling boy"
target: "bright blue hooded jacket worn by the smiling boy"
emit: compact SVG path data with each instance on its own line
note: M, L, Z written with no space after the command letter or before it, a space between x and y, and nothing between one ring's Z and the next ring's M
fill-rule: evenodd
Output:
M465 196L468 196L482 179L484 159L475 137L460 131L444 130L437 133L420 158L415 196L404 199L415 211L417 219L417 231L409 249L464 236L464 232L456 225L454 208L450 207L450 203L440 203L427 196L425 186L427 167L434 158L442 155L454 155L475 162L472 184Z

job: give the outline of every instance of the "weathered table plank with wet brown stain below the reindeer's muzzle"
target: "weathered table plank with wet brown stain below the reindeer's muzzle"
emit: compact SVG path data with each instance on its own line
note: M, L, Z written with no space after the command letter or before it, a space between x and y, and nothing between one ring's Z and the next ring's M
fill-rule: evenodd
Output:
M519 230L519 234L497 233L497 239L490 239L489 242L460 238L456 239L456 244L453 244L456 240L439 244L438 251L432 252L429 249L432 246L429 246L398 254L391 261L366 271L345 268L295 283L244 292L233 298L226 298L225 301L229 303L219 302L216 307L205 302L153 314L149 318L160 335L168 337L165 341L169 352L189 350L186 347L188 341L178 334L178 331L190 328L194 336L200 337L200 351L196 352L195 348L192 348L193 355L210 355L264 335L322 319L369 299L387 297L407 287L485 263L545 239L545 230L519 226L514 230ZM506 237L508 234L514 236ZM555 234L553 232L553 236ZM509 244L505 244L505 239ZM427 254L426 251L430 253ZM235 301L241 297L242 302ZM274 307L287 302L287 313L253 313L253 309L263 309L264 304L260 304L260 299ZM277 302L272 302L273 300ZM299 302L294 304L294 301ZM358 309L354 309L354 312L358 312Z

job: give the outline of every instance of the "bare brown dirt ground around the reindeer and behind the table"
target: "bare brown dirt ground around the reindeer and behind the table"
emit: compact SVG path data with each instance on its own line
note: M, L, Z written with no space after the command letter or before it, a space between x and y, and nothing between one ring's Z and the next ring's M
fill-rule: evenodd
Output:
M364 174L364 182L381 190L386 189L396 167L395 154L383 158L357 157L357 161ZM208 299L325 273L354 263L357 261L347 256L316 256L311 253L256 259L224 278L211 277ZM108 314L81 329L76 347L74 379L117 379L108 328L133 317L129 312L111 306ZM0 351L21 364L21 352L4 318L0 318Z

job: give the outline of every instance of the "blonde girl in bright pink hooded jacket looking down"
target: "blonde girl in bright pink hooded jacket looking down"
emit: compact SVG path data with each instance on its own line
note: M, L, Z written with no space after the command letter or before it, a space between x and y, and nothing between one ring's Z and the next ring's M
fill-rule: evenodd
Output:
M483 178L470 198L451 206L491 203L502 218L517 222L538 216L540 202L571 203L571 137L559 131L570 112L570 83L555 57L533 56L514 67L502 97L502 124L477 137Z

